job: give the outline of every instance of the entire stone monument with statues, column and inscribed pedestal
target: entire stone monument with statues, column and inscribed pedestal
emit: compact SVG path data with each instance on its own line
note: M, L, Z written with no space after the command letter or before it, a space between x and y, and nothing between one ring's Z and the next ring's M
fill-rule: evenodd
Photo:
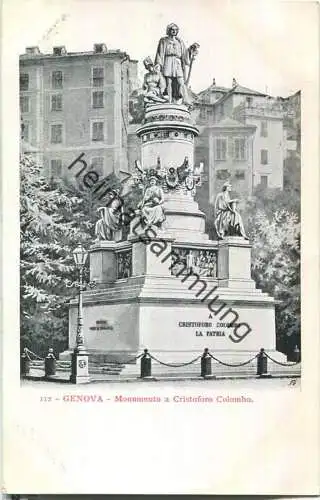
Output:
M188 84L199 45L186 47L178 32L170 24L155 59L144 60L141 163L135 165L143 195L130 214L117 197L101 208L90 248L97 286L83 296L84 338L88 352L104 361L131 360L144 348L166 363L189 361L205 347L231 363L261 347L275 351L274 299L251 279L251 247L231 186L216 199L216 240L205 233L205 215L194 201L202 165L194 164L198 129ZM71 350L76 301L69 323ZM125 372L138 369L128 365Z

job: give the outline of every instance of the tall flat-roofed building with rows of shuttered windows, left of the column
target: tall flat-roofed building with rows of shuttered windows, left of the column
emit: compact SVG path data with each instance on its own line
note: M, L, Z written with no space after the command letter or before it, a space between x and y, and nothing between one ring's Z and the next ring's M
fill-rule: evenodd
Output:
M95 44L93 51L20 56L23 139L37 150L48 177L72 177L80 155L99 175L128 168L129 95L137 61Z

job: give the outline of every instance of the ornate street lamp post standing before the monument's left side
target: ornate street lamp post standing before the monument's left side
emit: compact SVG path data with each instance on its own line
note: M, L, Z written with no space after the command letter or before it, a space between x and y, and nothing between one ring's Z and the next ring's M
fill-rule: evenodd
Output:
M89 382L89 356L84 347L83 335L83 307L82 307L82 292L83 292L83 268L88 257L88 252L82 245L78 245L73 251L74 262L79 271L79 298L78 298L78 321L76 345L72 353L71 376L70 382L81 384Z

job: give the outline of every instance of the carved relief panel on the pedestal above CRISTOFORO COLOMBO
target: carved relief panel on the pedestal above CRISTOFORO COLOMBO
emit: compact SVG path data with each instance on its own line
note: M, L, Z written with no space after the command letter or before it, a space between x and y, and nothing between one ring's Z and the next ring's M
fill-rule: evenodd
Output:
M176 247L173 252L179 257L171 268L173 276L193 273L207 278L217 277L216 250Z

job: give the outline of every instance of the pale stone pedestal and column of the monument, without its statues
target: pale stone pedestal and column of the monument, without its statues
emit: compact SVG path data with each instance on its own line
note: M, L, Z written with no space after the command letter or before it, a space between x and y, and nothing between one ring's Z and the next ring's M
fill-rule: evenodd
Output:
M185 158L193 167L197 133L185 106L149 106L137 132L142 168L157 169L159 161L177 168ZM128 241L91 247L90 277L99 286L83 294L89 355L129 362L146 348L161 361L183 363L209 348L222 361L237 363L262 347L275 351L274 299L257 290L251 278L249 242L210 240L194 191L181 183L166 189L164 210L161 229L145 232L132 221ZM174 255L193 259L179 276L172 272ZM76 342L76 306L71 302L70 349ZM139 363L128 364L124 373L129 372L139 375Z

